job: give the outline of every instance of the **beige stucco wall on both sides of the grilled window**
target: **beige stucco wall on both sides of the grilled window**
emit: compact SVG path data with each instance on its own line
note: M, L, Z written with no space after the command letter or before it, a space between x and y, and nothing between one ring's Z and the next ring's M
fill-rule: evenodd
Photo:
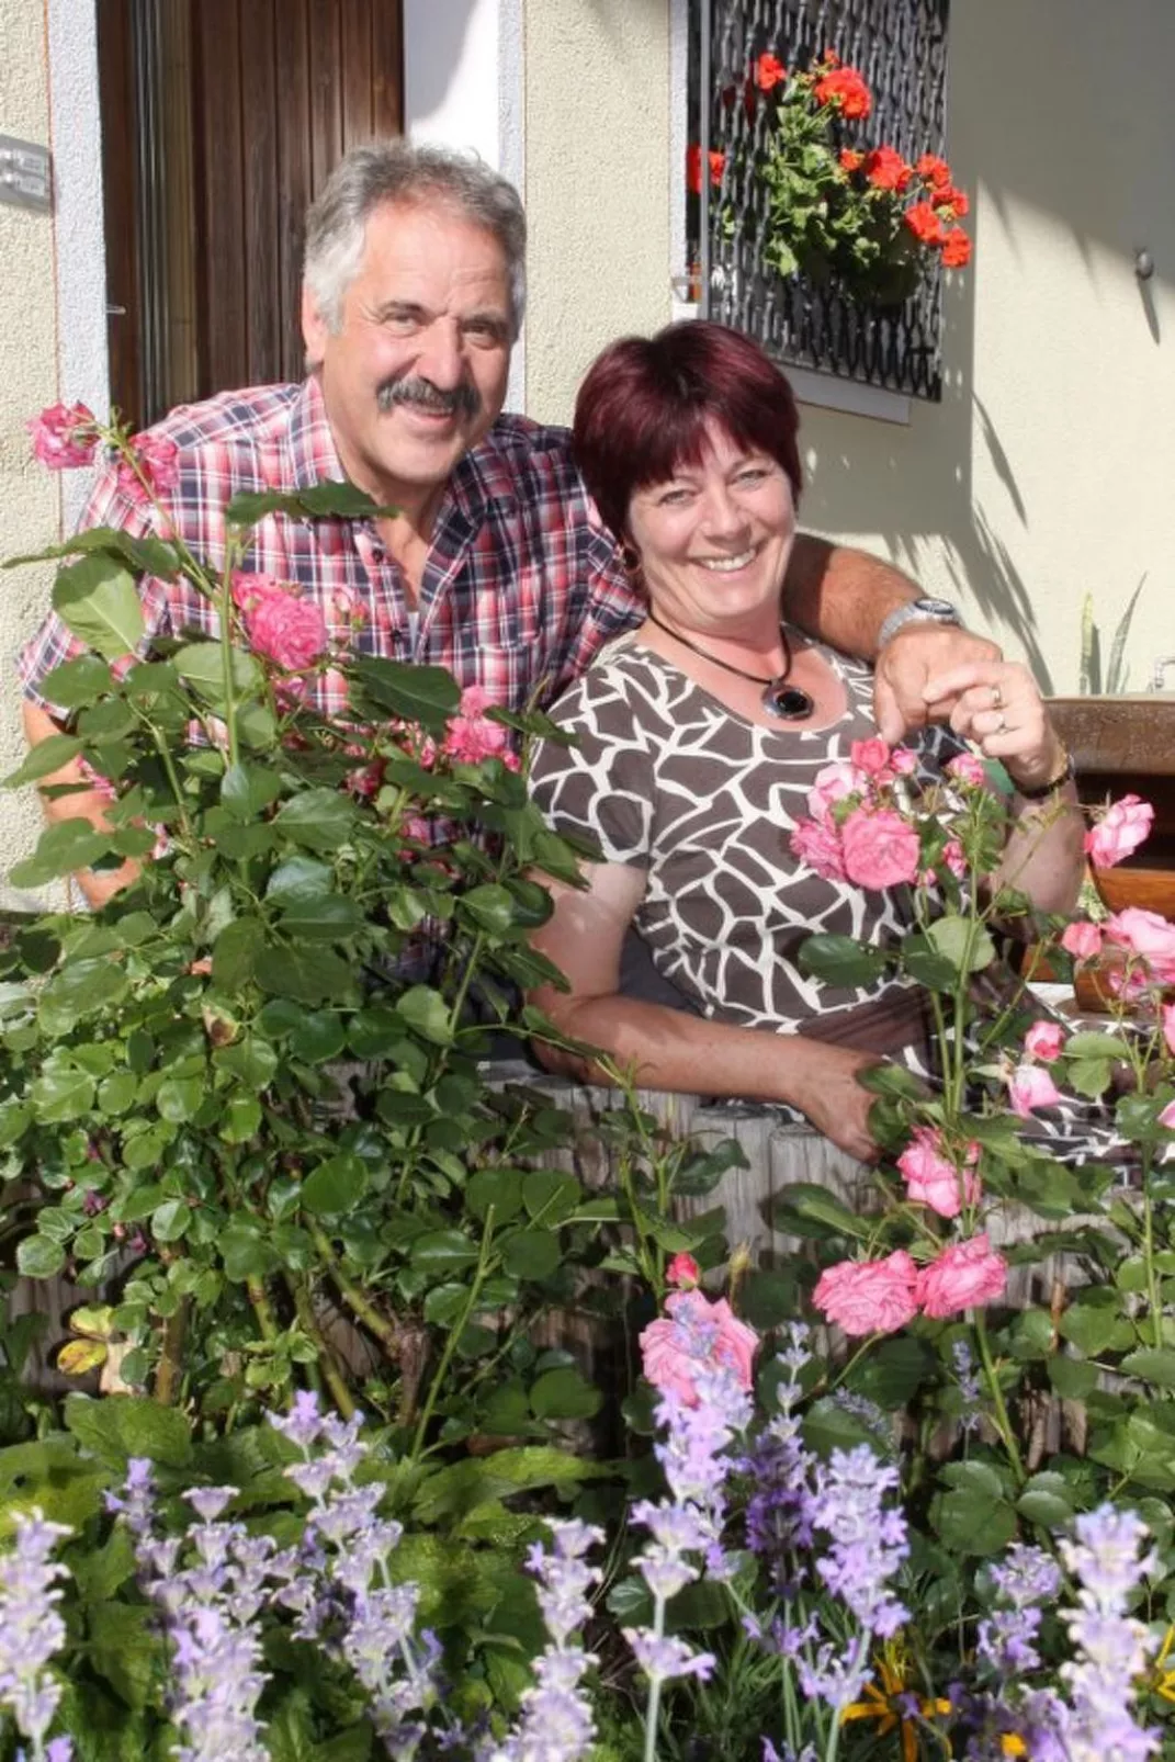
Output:
M539 416L567 419L599 344L669 315L668 14L527 5ZM1127 650L1142 684L1175 652L1175 5L953 0L950 62L978 248L946 296L944 400L907 426L805 407L805 518L960 599L1055 689L1076 684L1083 594L1108 640L1149 571Z

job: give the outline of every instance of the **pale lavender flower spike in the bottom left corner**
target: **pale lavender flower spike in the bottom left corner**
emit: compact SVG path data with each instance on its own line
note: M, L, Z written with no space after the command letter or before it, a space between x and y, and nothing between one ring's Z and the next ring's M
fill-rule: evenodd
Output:
M0 1558L0 1706L32 1737L33 1762L44 1762L44 1737L62 1699L48 1665L65 1644L56 1581L69 1570L53 1559L53 1549L67 1535L67 1524L46 1522L33 1507L16 1519L16 1544Z

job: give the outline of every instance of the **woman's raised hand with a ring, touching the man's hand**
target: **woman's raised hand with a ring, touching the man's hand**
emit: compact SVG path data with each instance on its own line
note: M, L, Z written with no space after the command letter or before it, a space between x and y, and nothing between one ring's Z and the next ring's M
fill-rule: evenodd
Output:
M990 759L1001 759L1015 784L1039 789L1064 772L1066 752L1048 721L1039 687L1018 661L983 661L951 668L927 687L955 698L951 728Z

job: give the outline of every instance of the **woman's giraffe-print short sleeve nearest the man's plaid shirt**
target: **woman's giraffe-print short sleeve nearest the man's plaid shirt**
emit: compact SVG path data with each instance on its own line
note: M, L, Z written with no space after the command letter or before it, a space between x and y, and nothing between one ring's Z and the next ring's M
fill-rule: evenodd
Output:
M551 708L573 745L541 740L530 795L553 832L595 839L604 862L648 869L654 766L624 682L585 673Z

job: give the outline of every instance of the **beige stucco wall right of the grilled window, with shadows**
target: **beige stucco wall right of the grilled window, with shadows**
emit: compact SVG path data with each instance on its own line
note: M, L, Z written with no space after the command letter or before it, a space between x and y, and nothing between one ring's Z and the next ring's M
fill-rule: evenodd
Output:
M1143 685L1175 652L1175 7L955 0L950 55L976 257L946 300L944 400L909 428L805 412L807 518L962 597L1059 691L1085 592L1108 638L1149 573Z

